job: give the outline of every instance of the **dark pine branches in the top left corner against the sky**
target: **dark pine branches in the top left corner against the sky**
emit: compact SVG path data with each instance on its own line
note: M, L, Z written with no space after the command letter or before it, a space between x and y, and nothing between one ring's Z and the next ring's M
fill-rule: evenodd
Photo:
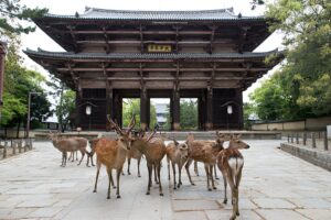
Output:
M20 0L1 0L0 1L0 34L8 33L30 33L35 30L34 26L20 24L19 21L31 21L33 18L42 16L47 9L29 9L20 4Z

